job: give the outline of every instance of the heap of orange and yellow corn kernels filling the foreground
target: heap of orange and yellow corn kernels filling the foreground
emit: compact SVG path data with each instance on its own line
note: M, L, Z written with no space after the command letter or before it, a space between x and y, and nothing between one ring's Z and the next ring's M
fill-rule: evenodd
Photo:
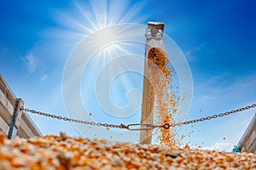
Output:
M2 134L0 169L256 169L256 155L91 141L65 133L11 141Z

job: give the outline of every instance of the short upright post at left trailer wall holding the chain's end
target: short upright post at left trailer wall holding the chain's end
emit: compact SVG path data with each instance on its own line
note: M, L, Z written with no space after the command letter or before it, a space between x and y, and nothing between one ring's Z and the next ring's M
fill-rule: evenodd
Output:
M18 128L20 125L20 118L22 111L20 108L24 105L24 101L22 99L15 100L15 110L12 116L10 116L10 125L9 125L9 132L7 135L8 139L15 139L17 136Z

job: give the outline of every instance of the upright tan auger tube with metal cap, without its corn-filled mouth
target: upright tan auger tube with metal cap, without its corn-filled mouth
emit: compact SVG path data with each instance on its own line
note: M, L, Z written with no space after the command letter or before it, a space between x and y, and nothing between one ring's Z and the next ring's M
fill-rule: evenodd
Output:
M146 30L146 49L145 49L145 65L143 79L143 104L141 123L154 123L154 89L150 82L148 52L151 48L157 47L162 40L164 31L163 23L148 22ZM141 131L140 144L151 144L152 130Z

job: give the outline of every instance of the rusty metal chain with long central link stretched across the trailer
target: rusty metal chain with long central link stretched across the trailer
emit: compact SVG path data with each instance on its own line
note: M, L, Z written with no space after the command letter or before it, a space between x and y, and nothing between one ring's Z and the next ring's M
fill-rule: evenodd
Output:
M195 122L204 122L204 121L208 121L210 119L215 119L215 118L218 118L218 117L221 117L221 116L228 116L230 114L234 114L234 113L237 113L237 112L240 112L240 111L249 110L249 109L252 109L254 107L256 107L256 104L247 105L245 107L241 107L240 109L236 109L236 110L233 110L233 111L227 111L227 112L224 112L224 113L220 113L218 115L212 115L212 116L202 117L200 119L194 119L194 120L191 120L191 121L178 122L178 123L173 123L173 124L165 123L163 125L154 125L154 124L151 124L151 123L136 123L136 124L128 124L128 125L125 125L125 124L121 123L119 125L114 125L114 124L101 123L101 122L88 122L88 121L81 121L81 120L77 120L77 119L68 118L68 117L65 117L65 116L55 116L55 115L51 115L49 113L44 113L44 112L41 112L41 111L34 111L34 110L24 108L23 106L20 108L20 111L31 112L33 114L37 114L37 115L41 115L41 116L49 116L49 117L52 117L52 118L61 119L63 121L78 122L78 123L83 123L83 124L86 124L86 125L92 125L92 126L98 126L98 127L115 127L115 128L125 128L125 129L128 129L128 130L152 130L156 127L162 127L162 128L168 129L170 127L177 127L177 126L187 125L187 124L191 124L191 123L195 123ZM137 126L140 126L140 127L134 128L134 127L137 127Z

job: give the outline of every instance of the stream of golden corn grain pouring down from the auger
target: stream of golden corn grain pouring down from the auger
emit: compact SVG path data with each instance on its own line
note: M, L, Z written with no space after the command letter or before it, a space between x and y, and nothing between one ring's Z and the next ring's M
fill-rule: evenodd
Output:
M156 124L175 123L178 100L177 92L173 90L172 74L174 70L167 65L166 53L160 48L148 51L148 72L154 87L154 113ZM177 88L176 88L177 89ZM173 149L181 145L184 136L179 137L175 128L160 128L157 132L157 142Z

